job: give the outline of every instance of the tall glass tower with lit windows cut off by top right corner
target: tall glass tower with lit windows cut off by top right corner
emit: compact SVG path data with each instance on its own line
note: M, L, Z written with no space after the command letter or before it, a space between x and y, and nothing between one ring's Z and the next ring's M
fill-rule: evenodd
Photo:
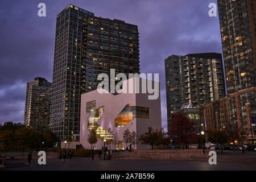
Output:
M227 92L256 86L256 1L218 0Z

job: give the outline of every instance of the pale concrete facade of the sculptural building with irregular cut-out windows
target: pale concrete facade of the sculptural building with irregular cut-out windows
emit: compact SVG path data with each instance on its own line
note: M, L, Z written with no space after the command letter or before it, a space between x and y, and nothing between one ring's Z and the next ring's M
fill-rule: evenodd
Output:
M135 78L132 78L135 80ZM142 81L140 79L140 81ZM123 85L127 83L128 80L124 81ZM153 82L154 85L159 82ZM123 90L126 87L123 86ZM128 88L128 87L127 87ZM134 90L135 90L134 84ZM160 87L158 87L160 88ZM161 129L161 105L160 105L160 89L157 90L159 92L159 97L156 100L148 100L148 93L121 93L114 95L112 93L98 93L98 90L94 90L89 93L82 94L81 96L81 122L80 122L80 143L84 148L91 148L91 145L88 143L88 135L90 131L88 130L88 117L89 114L86 113L86 104L91 101L96 101L96 109L104 106L104 114L98 119L97 124L103 127L105 130L111 130L113 133L117 133L117 138L120 142L122 142L122 147L119 146L119 149L125 149L126 143L123 142L123 132L126 129L129 129L130 132L135 131L138 138L147 131L148 127L152 127L155 129ZM122 127L115 127L115 118L121 113L123 108L126 107L127 104L139 106L139 107L148 107L149 108L149 119L146 118L134 118L133 121L127 123L127 125ZM94 146L96 149L100 149L104 146L104 142L98 138L97 144ZM117 149L118 146L114 146L113 144L108 144L108 148ZM150 149L151 146L142 145L140 142L133 146L134 149Z

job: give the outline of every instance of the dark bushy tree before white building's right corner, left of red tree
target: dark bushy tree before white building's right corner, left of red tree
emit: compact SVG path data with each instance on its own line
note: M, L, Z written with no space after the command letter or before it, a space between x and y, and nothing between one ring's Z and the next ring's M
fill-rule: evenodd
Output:
M157 137L158 134L152 129L152 127L148 127L146 133L142 134L141 137L139 137L139 141L142 144L150 145L153 150Z

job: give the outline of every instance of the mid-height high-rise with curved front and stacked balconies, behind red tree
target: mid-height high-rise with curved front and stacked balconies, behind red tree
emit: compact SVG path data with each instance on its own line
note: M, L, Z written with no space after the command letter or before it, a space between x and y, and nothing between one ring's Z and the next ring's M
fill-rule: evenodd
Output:
M225 96L220 53L172 55L165 60L165 68L168 122L184 104L199 108Z

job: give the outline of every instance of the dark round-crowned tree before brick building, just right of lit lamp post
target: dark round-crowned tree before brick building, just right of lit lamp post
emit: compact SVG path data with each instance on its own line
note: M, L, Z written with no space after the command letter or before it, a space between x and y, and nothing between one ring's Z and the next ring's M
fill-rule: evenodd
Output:
M223 144L228 142L228 135L223 130L212 130L209 132L209 140L210 142L220 144L221 153L223 153Z

